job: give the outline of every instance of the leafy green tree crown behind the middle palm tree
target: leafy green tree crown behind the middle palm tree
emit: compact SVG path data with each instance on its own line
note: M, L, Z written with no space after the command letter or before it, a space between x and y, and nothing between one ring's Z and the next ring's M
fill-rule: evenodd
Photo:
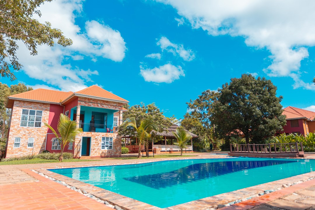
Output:
M137 125L140 125L141 121L151 122L156 125L157 130L160 132L169 128L171 125L171 119L166 118L155 103L149 105L141 103L140 105L133 105L131 107L129 107L129 105L124 105L124 108L126 108L127 111L123 113L123 121L135 118ZM135 130L130 126L120 126L118 129L118 134L120 136L133 136L134 132Z

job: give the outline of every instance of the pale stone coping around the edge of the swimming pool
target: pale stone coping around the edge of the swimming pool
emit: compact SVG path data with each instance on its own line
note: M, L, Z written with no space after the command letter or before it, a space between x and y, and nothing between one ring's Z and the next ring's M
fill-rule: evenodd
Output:
M242 198L246 199L251 199L254 197L257 197L258 193L264 193L265 190L271 190L271 189L277 189L277 188L284 188L282 187L283 184L288 184L288 183L293 183L293 182L301 182L301 180L306 180L311 177L315 177L315 171L313 172L308 172L308 173L303 173L299 175L295 175L292 177L287 177L284 179L279 179L263 184L258 184L254 185L251 187L247 188L242 188L239 190L234 190L222 194L218 194L215 196L209 196L205 198L201 198L198 200L194 201L189 201L186 203L182 204L177 204L175 206L170 206L170 207L165 207L165 208L160 208L153 206L151 204L135 200L133 198L123 196L120 194L117 194L115 192L112 192L110 190L105 190L102 188L99 188L97 186L94 186L92 184L84 183L82 181L78 181L76 179L72 179L69 177L66 177L64 175L55 173L51 170L54 169L67 169L67 168L82 168L82 167L102 167L102 166L117 166L117 165L135 165L135 164L144 164L144 163L151 163L151 162L164 162L164 161L175 161L175 160L193 160L193 159L230 159L230 158L239 158L239 157L231 157L231 156L225 156L225 157L218 157L218 158L180 158L180 159L166 159L166 160L150 160L150 161L145 161L145 162L133 162L133 163L118 163L118 164L104 164L104 165L96 165L96 166L78 166L78 167L61 167L61 168L40 168L40 169L34 169L38 173L43 173L43 175L49 176L51 178L60 180L61 182L65 182L66 184L69 184L71 186L76 187L77 189L80 190L85 190L88 193L99 197L101 200L107 201L112 205L117 205L121 207L122 209L126 210L140 210L140 209L150 209L150 210L175 210L175 209L189 209L189 207L193 207L196 209L197 206L199 206L198 209L203 210L203 209L209 209L211 207L217 207L218 205L223 205L232 203L233 201L240 200ZM260 157L255 157L255 158L260 158ZM264 157L265 158L265 157ZM268 158L269 159L269 158ZM295 160L305 160L307 158L270 158L270 159L295 159ZM311 176L309 176L311 175ZM246 193L244 193L244 190L247 190ZM239 196L241 195L241 196ZM108 199L109 198L109 199ZM120 200L122 199L122 201ZM130 205L125 205L126 202L130 203L136 203L135 207L130 206ZM137 207L138 206L138 207Z

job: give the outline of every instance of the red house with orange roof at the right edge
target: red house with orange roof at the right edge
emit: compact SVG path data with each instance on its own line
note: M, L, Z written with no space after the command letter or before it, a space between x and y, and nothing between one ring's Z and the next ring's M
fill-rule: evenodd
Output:
M283 109L287 124L281 133L307 135L315 132L315 112L288 106Z

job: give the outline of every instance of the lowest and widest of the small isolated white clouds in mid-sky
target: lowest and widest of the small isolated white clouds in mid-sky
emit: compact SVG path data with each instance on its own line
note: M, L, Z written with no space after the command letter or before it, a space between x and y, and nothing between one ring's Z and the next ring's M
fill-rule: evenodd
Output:
M140 74L146 82L165 82L171 83L180 76L185 77L185 73L181 66L165 64L153 69L143 68L140 66Z

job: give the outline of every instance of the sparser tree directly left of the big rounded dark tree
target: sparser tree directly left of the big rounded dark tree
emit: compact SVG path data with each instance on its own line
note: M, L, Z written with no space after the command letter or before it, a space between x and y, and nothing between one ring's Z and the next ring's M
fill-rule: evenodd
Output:
M211 122L213 114L213 104L219 96L218 92L206 90L201 93L195 100L186 103L190 112L186 113L181 125L192 133L199 136L197 140L200 145L209 146L212 143L216 148L218 139L215 138L214 124Z

